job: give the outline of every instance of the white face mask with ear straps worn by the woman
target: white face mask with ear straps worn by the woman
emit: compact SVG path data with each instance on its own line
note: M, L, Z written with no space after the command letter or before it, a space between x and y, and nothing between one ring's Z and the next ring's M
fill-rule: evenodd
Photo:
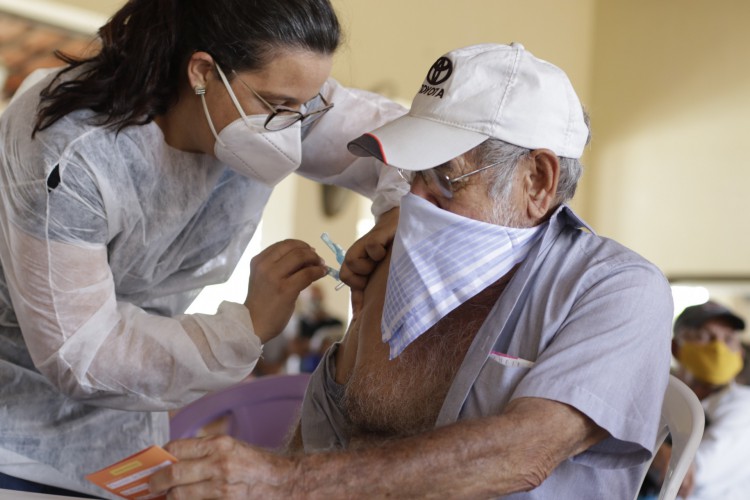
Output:
M240 114L221 132L216 133L214 124L201 94L203 112L211 132L216 138L214 154L220 161L244 176L256 179L269 186L275 186L287 175L297 170L302 161L301 124L295 123L283 130L268 131L263 125L267 115L247 116L237 97L229 86L224 72L219 70L224 86L229 92L234 106Z

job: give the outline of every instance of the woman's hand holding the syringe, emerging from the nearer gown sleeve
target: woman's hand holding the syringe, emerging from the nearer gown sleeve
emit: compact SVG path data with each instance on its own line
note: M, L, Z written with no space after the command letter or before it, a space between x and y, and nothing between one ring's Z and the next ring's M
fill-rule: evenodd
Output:
M245 307L261 342L284 329L300 292L325 275L325 262L304 241L284 240L253 257Z

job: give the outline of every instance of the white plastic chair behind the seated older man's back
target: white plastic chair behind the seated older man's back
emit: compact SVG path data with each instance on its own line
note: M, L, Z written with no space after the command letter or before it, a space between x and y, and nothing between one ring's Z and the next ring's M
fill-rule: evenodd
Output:
M705 424L706 416L698 397L680 379L670 375L661 408L661 428L654 447L654 450L658 450L667 434L672 435L672 455L659 490L659 500L677 498L677 491L703 438ZM644 478L647 471L648 467L644 470Z

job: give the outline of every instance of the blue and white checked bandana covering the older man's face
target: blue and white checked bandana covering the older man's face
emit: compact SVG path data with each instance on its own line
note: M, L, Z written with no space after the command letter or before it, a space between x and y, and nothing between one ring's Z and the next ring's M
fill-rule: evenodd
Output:
M401 198L381 323L390 359L525 259L542 229L470 219L411 193Z

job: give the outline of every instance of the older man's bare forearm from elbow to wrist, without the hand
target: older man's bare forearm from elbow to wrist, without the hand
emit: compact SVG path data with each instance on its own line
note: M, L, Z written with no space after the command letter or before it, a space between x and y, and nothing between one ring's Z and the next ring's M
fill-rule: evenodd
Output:
M494 497L539 486L562 461L605 437L572 407L522 398L499 416L377 448L305 457L299 463L304 478L299 484L329 496ZM344 472L335 484L325 479Z

